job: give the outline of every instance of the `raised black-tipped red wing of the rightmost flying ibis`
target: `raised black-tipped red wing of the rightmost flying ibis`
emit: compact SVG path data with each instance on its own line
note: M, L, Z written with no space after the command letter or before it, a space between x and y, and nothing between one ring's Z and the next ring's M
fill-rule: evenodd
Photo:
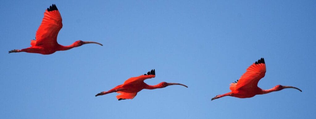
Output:
M248 67L246 73L244 73L237 82L233 82L230 84L229 89L234 91L236 89L241 88L254 88L258 87L258 82L265 75L265 62L264 59L261 58L258 62L253 63Z

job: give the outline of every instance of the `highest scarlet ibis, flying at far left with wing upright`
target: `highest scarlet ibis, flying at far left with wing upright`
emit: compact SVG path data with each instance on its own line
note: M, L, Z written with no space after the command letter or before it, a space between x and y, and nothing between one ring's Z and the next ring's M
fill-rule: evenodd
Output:
M79 47L83 44L97 42L76 41L69 46L62 46L57 43L57 35L59 30L63 27L62 19L55 4L52 4L45 10L44 18L39 29L36 31L35 39L31 40L31 47L21 50L11 50L9 53L27 52L39 54L52 54L56 51L69 50L71 48Z

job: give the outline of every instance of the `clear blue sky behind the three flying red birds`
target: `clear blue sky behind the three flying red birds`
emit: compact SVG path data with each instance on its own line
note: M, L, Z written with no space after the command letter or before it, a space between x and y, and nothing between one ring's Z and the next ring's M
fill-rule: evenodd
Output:
M51 55L30 47L45 9L63 18L58 43L96 41ZM316 2L297 1L2 1L0 118L315 118ZM223 97L264 57L258 86L284 89L253 98ZM132 100L94 97L151 69Z

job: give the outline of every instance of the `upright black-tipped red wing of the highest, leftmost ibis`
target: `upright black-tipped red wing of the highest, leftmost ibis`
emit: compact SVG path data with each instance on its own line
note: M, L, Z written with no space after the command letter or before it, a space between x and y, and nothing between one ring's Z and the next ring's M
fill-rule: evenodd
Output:
M44 18L39 29L36 31L34 41L31 41L31 45L48 45L53 46L57 44L57 35L59 30L63 27L62 19L55 4L52 4L47 10L45 10Z

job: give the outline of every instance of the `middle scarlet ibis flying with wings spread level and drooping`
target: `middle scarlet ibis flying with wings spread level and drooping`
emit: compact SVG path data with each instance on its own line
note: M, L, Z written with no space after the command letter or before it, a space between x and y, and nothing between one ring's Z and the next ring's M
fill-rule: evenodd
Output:
M170 85L181 85L188 88L186 85L183 85L180 83L161 82L157 85L151 86L151 85L147 85L144 82L145 79L154 78L154 77L155 77L155 69L148 71L147 74L144 74L138 77L131 77L127 79L123 84L118 85L109 91L98 93L95 96L116 92L116 93L120 93L120 95L117 95L116 98L119 100L122 100L122 99L133 99L137 95L137 93L143 89L165 88Z

